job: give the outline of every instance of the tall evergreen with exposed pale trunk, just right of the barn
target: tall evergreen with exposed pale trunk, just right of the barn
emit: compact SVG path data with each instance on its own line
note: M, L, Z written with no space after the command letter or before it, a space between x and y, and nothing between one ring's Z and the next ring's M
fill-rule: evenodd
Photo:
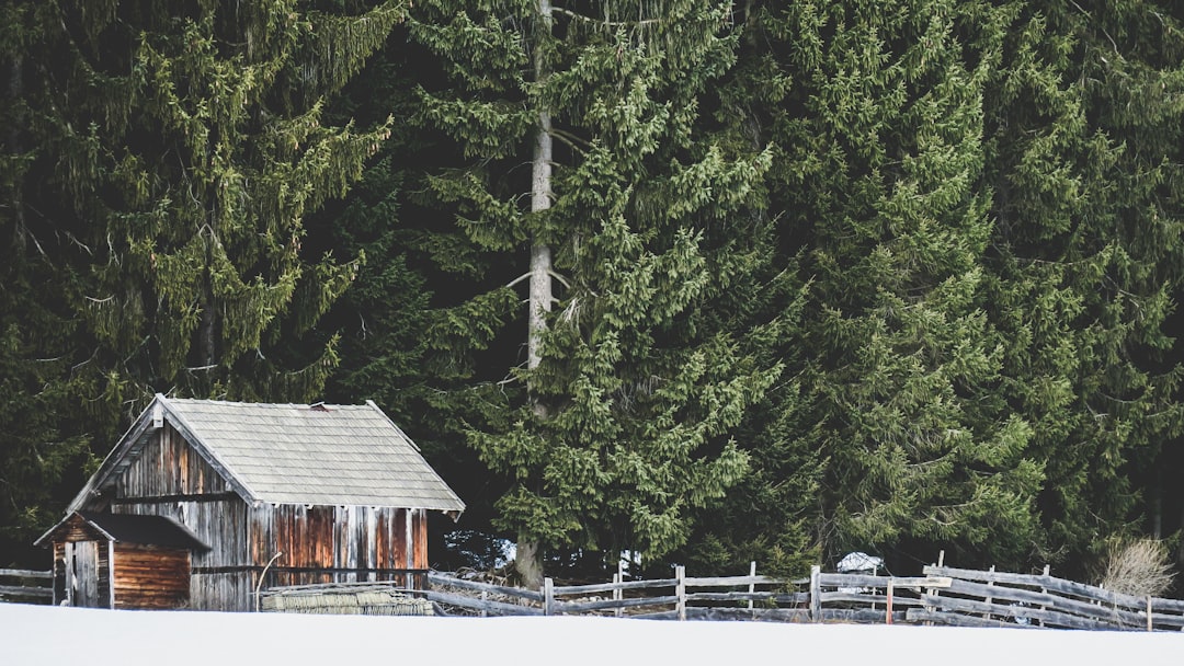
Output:
M682 545L690 510L747 467L728 435L776 368L701 316L745 270L739 212L768 163L696 128L733 60L727 11L417 7L412 34L445 73L424 86L424 117L468 157L433 192L466 247L503 258L501 284L530 274L525 362L501 360L502 422L471 433L515 481L497 506L528 581L540 548ZM468 300L465 335L494 330L506 295Z

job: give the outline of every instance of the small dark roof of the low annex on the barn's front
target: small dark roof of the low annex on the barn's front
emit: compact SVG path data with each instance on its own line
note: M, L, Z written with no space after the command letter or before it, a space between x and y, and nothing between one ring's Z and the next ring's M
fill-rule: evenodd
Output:
M94 539L185 550L210 550L210 547L201 543L193 532L165 516L101 513L96 511L71 512L60 523L41 535L37 543Z

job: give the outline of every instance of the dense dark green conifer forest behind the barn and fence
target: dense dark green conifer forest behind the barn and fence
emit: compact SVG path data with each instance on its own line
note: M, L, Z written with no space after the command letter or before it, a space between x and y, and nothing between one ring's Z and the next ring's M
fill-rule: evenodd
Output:
M1184 5L0 0L0 567L156 393L374 400L529 586L1184 562Z

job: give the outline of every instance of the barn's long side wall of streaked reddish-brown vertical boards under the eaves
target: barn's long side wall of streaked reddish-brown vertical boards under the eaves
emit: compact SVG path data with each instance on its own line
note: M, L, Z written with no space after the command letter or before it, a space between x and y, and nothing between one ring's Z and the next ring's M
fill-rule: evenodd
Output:
M410 558L408 535L419 542ZM401 581L406 569L427 568L426 536L422 510L292 504L249 509L255 564L262 568L276 552L283 554L271 565L266 587Z

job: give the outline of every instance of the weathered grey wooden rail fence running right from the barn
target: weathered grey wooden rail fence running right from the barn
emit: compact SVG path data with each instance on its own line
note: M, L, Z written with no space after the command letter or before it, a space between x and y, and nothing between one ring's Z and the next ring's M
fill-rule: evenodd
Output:
M691 577L556 586L493 584L429 573L425 599L448 615L604 615L669 620L940 623L1075 629L1184 631L1184 601L1134 597L1043 575L926 567L924 576L824 574L810 578ZM393 583L324 586L327 591L373 590ZM303 586L302 589L317 586ZM330 589L332 588L332 589ZM283 588L269 594L282 594Z

